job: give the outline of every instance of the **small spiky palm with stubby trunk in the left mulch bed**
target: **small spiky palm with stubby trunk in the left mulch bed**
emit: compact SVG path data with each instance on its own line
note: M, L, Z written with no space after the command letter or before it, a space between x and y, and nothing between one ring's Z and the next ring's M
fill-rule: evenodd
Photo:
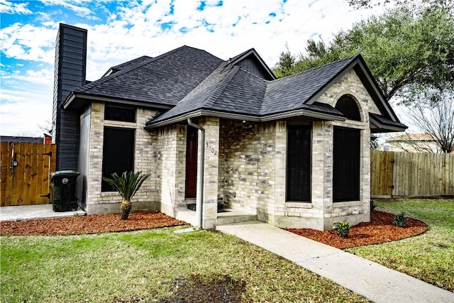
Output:
M123 202L121 202L121 220L128 220L131 211L131 199L138 191L142 183L150 177L150 174L143 172L123 172L118 176L116 172L112 174L112 179L103 177L102 179L111 184L112 187L121 195Z

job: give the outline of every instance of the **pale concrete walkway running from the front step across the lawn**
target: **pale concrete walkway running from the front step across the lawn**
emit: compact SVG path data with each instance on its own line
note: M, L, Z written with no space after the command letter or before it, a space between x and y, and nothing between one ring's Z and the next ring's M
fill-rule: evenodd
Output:
M216 229L291 260L373 302L454 302L453 292L260 221Z

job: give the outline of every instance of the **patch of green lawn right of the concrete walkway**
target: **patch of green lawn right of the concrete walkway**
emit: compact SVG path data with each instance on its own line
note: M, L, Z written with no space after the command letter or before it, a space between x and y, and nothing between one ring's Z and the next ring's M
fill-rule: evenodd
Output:
M374 201L378 210L404 214L428 231L401 241L346 251L454 292L454 199Z

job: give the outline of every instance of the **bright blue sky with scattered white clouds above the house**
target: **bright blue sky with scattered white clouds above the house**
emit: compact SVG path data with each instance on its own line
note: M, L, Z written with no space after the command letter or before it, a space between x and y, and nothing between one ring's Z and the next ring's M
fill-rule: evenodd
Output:
M0 0L0 135L40 136L52 121L59 23L88 30L87 79L142 55L182 45L227 60L255 48L273 67L289 46L333 33L377 11L345 0Z

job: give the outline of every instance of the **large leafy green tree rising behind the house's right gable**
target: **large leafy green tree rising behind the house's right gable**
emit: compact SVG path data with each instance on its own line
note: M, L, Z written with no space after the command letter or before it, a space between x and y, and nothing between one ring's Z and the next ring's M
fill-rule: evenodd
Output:
M329 44L321 38L308 40L307 55L299 55L291 70L301 72L361 53L384 97L399 96L399 102L408 104L421 87L453 85L453 33L453 16L445 9L393 9L339 31Z

